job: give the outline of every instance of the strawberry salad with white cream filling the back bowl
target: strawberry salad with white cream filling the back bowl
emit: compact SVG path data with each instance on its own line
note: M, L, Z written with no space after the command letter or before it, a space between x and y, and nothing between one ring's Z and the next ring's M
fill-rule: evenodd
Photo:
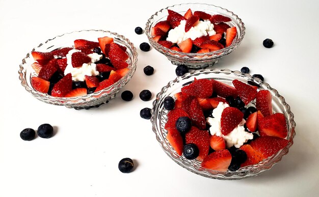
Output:
M184 15L168 10L166 20L157 22L151 36L158 44L186 53L206 53L231 45L237 35L231 18L189 9Z

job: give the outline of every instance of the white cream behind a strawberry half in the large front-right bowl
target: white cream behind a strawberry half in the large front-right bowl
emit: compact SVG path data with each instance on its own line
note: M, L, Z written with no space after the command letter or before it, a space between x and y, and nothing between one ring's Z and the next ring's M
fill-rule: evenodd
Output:
M219 102L218 106L212 110L212 116L214 118L208 117L206 119L206 122L211 126L209 128L210 134L223 137L227 148L232 146L240 148L248 141L248 139L253 139L254 135L245 131L244 124L246 121L244 119L230 133L228 133L228 135L223 135L221 132L221 117L222 112L226 107L229 107L227 103Z

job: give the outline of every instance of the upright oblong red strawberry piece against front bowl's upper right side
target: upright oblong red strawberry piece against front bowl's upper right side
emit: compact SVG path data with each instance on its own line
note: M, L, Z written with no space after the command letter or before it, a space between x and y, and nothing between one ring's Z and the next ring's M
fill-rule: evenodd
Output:
M256 108L264 117L273 114L272 95L268 90L260 90L257 93Z

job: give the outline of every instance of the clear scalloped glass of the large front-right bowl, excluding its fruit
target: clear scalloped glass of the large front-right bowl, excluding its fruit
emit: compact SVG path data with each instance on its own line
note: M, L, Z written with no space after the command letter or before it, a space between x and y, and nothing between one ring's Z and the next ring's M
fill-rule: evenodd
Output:
M181 91L183 86L188 85L194 81L194 77L197 79L208 78L215 79L226 83L232 86L232 80L238 79L245 83L248 81L253 81L257 83L260 87L258 90L269 90L272 95L272 104L274 112L281 112L284 114L287 122L288 135L286 139L289 141L288 145L280 150L276 155L273 155L267 159L260 161L257 164L249 165L240 168L235 172L226 171L214 171L208 170L201 167L199 160L189 160L186 159L183 155L179 156L173 147L169 144L166 139L167 130L164 128L167 122L168 110L164 108L164 99L167 96L174 96L174 94ZM153 102L153 108L151 109L151 122L152 129L156 134L156 139L159 144L162 146L164 152L177 164L184 167L185 169L201 175L203 177L208 177L212 179L221 179L221 180L238 180L247 177L257 176L258 174L269 170L273 165L281 161L281 158L288 153L289 148L293 145L294 136L295 136L295 127L296 123L294 121L294 114L290 111L290 106L285 102L285 99L279 95L277 90L270 87L268 83L262 82L259 78L254 78L249 74L244 74L240 71L231 71L228 69L219 70L219 69L202 69L196 70L191 73L184 74L181 77L175 78L173 81L170 81L167 86L163 87L161 92L156 95L156 99Z

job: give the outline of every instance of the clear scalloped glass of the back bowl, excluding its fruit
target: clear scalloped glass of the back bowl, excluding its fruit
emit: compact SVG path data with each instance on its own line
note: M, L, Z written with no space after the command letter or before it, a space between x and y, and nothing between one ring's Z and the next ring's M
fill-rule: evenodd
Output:
M230 46L217 51L212 51L207 53L184 53L184 52L171 50L155 42L151 36L152 27L157 22L166 20L169 9L181 15L184 15L184 13L188 9L191 9L193 12L202 11L211 15L221 14L221 15L227 16L231 18L231 21L226 23L229 26L236 26L237 35ZM150 44L158 52L161 52L162 54L164 54L172 62L172 64L186 65L189 68L196 70L196 69L202 69L202 68L206 68L208 66L214 65L215 63L218 62L220 58L224 57L225 55L235 50L241 44L244 38L245 26L244 26L244 23L242 22L242 19L238 18L238 16L235 15L233 12L230 12L224 8L214 6L214 5L208 5L208 4L189 3L189 4L174 5L174 6L170 6L162 10L159 10L148 19L146 23L146 27L145 27L145 32Z

